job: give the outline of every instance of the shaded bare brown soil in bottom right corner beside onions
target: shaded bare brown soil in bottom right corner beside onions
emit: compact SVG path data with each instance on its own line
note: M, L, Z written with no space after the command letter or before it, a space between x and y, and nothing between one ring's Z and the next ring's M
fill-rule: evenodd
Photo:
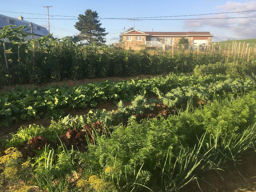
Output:
M237 171L233 165L230 165L225 171L209 171L200 175L202 180L198 180L199 186L203 192L245 192L256 191L256 153L245 154L239 159ZM221 178L221 177L222 178ZM214 187L213 187L214 186ZM179 190L179 192L200 192L196 180Z

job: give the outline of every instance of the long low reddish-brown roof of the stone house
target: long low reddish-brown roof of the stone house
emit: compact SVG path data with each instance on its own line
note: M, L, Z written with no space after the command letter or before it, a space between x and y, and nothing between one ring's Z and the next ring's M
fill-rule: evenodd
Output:
M133 33L134 32L134 33ZM141 32L141 33L137 33ZM138 30L127 31L126 33L121 33L120 35L147 35L147 36L215 36L210 34L210 32L142 32Z

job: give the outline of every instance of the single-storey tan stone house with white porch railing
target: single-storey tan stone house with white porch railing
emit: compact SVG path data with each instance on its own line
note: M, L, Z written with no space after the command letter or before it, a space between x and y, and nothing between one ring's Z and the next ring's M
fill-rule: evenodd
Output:
M182 37L189 40L190 45L209 44L211 38L210 32L142 32L131 30L120 34L125 49L130 47L134 50L141 49L142 45L147 47L163 48L164 45L178 44Z

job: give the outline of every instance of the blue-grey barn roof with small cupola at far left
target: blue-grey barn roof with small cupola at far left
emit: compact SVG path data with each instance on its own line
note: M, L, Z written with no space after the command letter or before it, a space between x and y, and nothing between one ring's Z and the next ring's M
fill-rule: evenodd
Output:
M23 18L21 15L20 15L20 17ZM14 25L16 25L16 26L25 25L28 27L27 29L31 29L31 27L30 27L31 22L21 20L18 18L8 17L8 16L1 15L1 14L0 14L0 29L3 28L4 26L10 25L10 20L14 21ZM45 27L42 27L35 23L32 23L32 26L33 26L33 33L35 35L39 35L39 36L48 35L48 29L46 29ZM37 30L38 27L40 28L40 30ZM27 33L31 33L31 30L30 31L28 30Z

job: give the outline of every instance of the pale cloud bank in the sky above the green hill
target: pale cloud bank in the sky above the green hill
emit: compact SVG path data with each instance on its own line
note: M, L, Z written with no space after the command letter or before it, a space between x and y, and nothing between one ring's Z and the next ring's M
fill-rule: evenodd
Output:
M228 1L225 5L216 6L219 12L238 12L247 10L256 10L256 1L246 3L236 3ZM206 18L207 16L200 16L197 18ZM223 17L256 17L256 12L243 12L243 13L229 13L211 15L207 18L223 18ZM194 31L209 31L205 29L215 30L215 35L219 39L226 39L227 35L230 39L241 38L251 39L255 38L256 18L230 18L230 19L205 19L205 20L186 20L185 28ZM211 32L212 33L212 32Z

